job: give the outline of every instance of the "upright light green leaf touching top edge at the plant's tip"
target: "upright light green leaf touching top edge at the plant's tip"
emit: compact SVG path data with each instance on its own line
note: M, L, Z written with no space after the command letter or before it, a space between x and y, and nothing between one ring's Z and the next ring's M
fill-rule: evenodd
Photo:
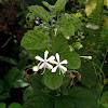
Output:
M54 6L55 6L55 11L54 11L54 13L64 10L66 3L67 3L67 0L57 0L56 3L55 3L55 5L54 5Z

